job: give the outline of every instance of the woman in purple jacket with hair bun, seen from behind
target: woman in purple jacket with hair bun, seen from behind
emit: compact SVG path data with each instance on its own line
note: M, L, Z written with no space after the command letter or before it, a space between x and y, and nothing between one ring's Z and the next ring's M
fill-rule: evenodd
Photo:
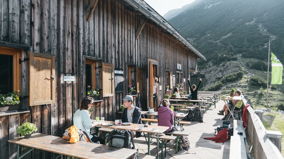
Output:
M174 113L169 108L170 102L168 99L163 99L161 103L162 106L158 108L158 126L168 126L170 128L166 132L172 132L174 131Z

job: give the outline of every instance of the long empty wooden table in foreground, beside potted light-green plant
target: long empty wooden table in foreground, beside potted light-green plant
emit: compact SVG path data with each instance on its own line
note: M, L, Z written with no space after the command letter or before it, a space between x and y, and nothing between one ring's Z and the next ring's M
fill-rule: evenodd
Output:
M17 144L18 156L21 158L25 156L25 152L20 155L20 145L25 146L26 152L33 149L43 150L43 158L45 158L45 151L52 152L53 158L55 154L67 155L76 158L129 158L136 150L111 147L100 145L96 143L87 143L78 141L77 143L69 143L69 140L62 139L62 137L51 136L41 133L34 133L30 138L18 137L8 140L9 143ZM55 154L54 154L55 153ZM119 154L119 155L118 155Z

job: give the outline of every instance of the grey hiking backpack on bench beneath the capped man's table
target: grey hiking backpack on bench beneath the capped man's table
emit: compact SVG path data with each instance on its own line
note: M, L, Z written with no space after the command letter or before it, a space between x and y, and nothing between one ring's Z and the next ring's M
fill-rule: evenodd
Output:
M132 144L132 146L131 146ZM133 135L130 130L117 130L113 129L110 133L110 137L108 138L108 145L113 147L121 147L127 149L135 149ZM139 157L139 149L130 158L137 159Z

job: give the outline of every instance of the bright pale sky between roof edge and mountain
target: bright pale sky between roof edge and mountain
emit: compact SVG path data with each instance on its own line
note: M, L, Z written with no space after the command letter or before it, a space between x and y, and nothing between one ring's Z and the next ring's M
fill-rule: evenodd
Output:
M144 0L161 16L164 16L169 10L181 8L186 4L192 3L194 0Z

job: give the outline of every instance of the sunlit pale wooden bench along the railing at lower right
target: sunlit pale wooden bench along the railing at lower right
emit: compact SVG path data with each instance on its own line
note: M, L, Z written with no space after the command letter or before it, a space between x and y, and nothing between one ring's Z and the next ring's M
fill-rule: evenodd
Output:
M243 135L237 134L238 132L242 132ZM248 158L249 154L246 150L246 133L243 123L240 120L234 120L234 135L231 136L230 140L230 159Z

